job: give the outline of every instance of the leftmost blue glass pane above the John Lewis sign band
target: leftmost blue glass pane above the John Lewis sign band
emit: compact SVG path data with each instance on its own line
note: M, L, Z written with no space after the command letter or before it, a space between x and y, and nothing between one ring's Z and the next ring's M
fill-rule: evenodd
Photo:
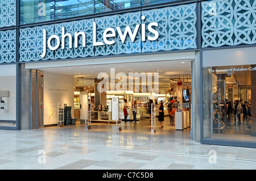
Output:
M72 18L94 13L93 0L21 0L20 24Z

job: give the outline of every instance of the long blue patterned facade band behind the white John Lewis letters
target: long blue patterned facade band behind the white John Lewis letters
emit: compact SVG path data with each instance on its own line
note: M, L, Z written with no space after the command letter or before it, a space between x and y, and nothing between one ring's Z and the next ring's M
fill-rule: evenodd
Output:
M142 20L142 15L146 19ZM120 27L124 32L126 26L130 26L131 32L134 32L136 24L146 24L157 22L158 27L154 27L159 33L159 38L155 41L142 41L141 26L139 27L134 42L130 36L126 37L122 43L119 34L110 37L108 40L114 40L111 45L93 46L93 21L97 24L97 42L103 41L103 32L106 28ZM81 38L78 48L69 48L69 39L65 39L65 49L58 48L49 50L47 56L40 57L43 52L43 28L47 31L47 37L57 35L61 40L61 27L65 27L65 33L83 31L86 34L86 47L82 47ZM112 16L103 16L100 18L77 20L73 22L57 23L50 26L40 26L20 29L20 62L39 61L39 60L57 60L66 58L97 57L113 54L133 54L144 52L159 52L177 49L195 49L196 48L196 3L191 5L181 5L175 7L166 7L163 9L154 9L148 11L129 12ZM146 37L151 33L146 31ZM152 36L152 35L151 35ZM53 47L56 42L53 42Z

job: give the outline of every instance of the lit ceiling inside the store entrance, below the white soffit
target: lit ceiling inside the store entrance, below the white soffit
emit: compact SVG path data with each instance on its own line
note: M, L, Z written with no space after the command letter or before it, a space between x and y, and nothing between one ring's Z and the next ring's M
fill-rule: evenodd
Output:
M97 78L99 73L107 73L110 78L110 69L112 68L114 68L115 74L122 72L125 73L127 77L129 73L159 73L159 89L168 89L170 86L170 78L191 77L190 60L84 65L43 68L39 70L72 75L74 76L74 86L85 87L94 86L94 78Z

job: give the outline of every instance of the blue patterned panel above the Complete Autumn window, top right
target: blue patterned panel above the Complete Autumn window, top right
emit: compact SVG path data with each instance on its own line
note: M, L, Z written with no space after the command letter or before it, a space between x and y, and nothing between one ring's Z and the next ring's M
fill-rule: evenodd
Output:
M202 48L256 43L256 1L202 2Z

